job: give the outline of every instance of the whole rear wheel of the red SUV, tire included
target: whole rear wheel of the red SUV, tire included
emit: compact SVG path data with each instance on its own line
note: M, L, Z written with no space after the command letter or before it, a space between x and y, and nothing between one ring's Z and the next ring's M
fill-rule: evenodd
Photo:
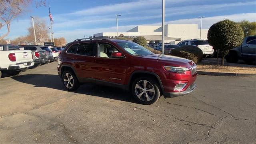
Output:
M77 90L80 86L76 78L76 75L70 70L66 70L62 74L62 83L64 84L65 88L69 91Z

